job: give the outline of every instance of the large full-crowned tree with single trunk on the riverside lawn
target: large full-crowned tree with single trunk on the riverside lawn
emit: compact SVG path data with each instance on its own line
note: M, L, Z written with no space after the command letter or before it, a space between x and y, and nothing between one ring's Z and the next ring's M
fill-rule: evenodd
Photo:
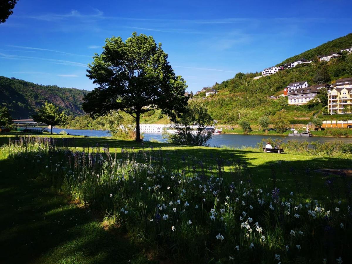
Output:
M133 32L125 42L108 38L88 67L87 77L99 87L84 97L84 111L91 116L116 109L130 114L136 119L136 141L141 140L140 114L159 108L174 120L187 105L186 82L175 75L161 43L151 36Z

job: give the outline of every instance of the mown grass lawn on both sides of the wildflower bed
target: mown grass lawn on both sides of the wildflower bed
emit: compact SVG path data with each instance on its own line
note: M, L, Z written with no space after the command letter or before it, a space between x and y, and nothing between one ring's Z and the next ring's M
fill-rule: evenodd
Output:
M8 134L0 137L0 146L8 142ZM37 135L36 135L37 136ZM176 146L163 143L143 144L129 140L43 134L40 137L73 138L72 147L109 147L110 152L121 149L147 149L162 155L175 170L190 161L201 162L216 170L224 164L224 174L231 181L228 161L240 160L249 166L251 180L271 187L273 177L283 193L298 192L303 197L326 198L324 175L315 169L351 168L351 160L321 158L250 150L231 150L215 147ZM188 164L190 165L190 164ZM124 230L106 230L101 216L70 201L38 180L26 168L18 168L5 153L0 153L0 243L1 260L5 263L146 263L147 253L132 241ZM329 176L332 177L332 176ZM145 247L144 247L145 248Z

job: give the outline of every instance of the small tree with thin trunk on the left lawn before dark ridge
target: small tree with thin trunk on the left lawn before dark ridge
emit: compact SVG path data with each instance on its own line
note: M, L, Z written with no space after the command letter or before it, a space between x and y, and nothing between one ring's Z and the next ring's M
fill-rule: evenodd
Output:
M56 125L67 124L67 115L64 112L59 112L59 107L52 103L45 102L45 104L39 108L36 115L33 115L33 120L38 123L45 123L51 127Z

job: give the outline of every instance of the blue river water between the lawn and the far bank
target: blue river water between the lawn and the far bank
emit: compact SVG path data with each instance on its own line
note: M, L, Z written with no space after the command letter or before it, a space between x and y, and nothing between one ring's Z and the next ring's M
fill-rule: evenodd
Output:
M59 133L60 131L66 131L71 135L77 136L89 136L89 137L108 137L111 136L107 131L102 130L86 130L86 129L66 129L66 128L53 128L54 133ZM282 138L281 136L265 136L265 135L240 135L240 134L220 134L214 135L208 144L212 147L234 147L239 148L242 146L256 147L257 143L262 140L262 138ZM162 134L157 133L144 133L144 141L149 141L151 139L156 139L160 142L165 142ZM307 140L308 142L320 141L329 142L342 140L344 143L352 143L352 138L335 138L335 137L285 137L284 142L287 140Z

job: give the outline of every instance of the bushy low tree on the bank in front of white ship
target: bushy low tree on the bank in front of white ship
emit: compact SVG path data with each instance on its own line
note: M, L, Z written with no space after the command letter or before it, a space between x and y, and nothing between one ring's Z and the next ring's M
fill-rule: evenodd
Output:
M176 132L164 134L169 143L205 146L213 136L212 131L206 129L206 126L212 124L213 119L208 113L208 109L200 102L190 101L187 111L181 114L176 122L177 124L174 126Z

